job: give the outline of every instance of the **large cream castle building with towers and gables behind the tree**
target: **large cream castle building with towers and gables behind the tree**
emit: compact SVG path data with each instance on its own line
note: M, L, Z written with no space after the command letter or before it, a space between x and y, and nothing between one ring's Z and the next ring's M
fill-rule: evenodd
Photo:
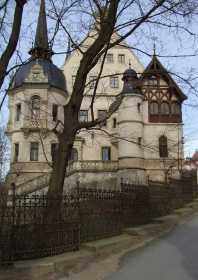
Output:
M93 28L82 48L86 49L94 36L97 29ZM61 70L53 64L52 55L42 0L30 60L18 69L8 92L7 134L12 146L8 178L19 192L47 189L57 147L53 128L58 120L63 122L63 106L70 99L81 60L75 50ZM91 120L90 105L100 68L101 60L89 73L80 121ZM186 96L155 54L144 69L126 43L108 51L94 101L95 117L102 117L120 97L121 104L109 119L78 132L66 171L66 189L76 180L108 187L121 178L147 184L148 180L179 177Z

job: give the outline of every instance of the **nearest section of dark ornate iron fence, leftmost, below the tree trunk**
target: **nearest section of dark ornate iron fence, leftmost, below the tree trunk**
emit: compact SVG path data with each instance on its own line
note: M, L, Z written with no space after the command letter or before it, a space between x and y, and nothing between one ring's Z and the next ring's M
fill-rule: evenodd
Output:
M45 195L9 195L0 202L1 262L61 254L79 248L78 200L63 196L60 213L47 219ZM50 198L53 200L53 198ZM55 205L55 201L50 203Z

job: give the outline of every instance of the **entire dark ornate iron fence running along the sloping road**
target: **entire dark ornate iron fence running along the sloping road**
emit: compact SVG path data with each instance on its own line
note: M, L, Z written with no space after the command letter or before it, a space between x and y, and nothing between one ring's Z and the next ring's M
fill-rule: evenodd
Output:
M120 234L183 206L197 194L189 180L73 189L63 197L0 196L0 263L78 250L81 242ZM49 217L51 217L49 219Z

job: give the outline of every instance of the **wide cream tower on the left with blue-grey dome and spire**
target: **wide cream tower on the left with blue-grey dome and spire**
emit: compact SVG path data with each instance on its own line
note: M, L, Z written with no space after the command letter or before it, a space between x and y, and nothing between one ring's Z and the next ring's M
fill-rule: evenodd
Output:
M63 105L67 101L64 74L51 60L53 51L48 43L44 0L34 47L29 54L28 63L19 67L8 91L7 134L11 142L8 184L14 181L21 185L49 174L58 142L52 130L58 120L63 121ZM40 183L34 184L39 187Z

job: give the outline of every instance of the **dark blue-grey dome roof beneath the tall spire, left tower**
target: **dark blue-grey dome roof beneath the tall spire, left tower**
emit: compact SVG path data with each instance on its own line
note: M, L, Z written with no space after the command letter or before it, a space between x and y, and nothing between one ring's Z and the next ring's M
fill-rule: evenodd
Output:
M62 70L46 59L36 59L22 65L14 76L12 88L20 87L24 83L34 83L34 80L29 81L29 75L36 66L39 66L44 74L45 81L43 81L43 83L66 91L66 81ZM35 83L39 83L39 81L37 80ZM40 83L42 83L42 80Z

